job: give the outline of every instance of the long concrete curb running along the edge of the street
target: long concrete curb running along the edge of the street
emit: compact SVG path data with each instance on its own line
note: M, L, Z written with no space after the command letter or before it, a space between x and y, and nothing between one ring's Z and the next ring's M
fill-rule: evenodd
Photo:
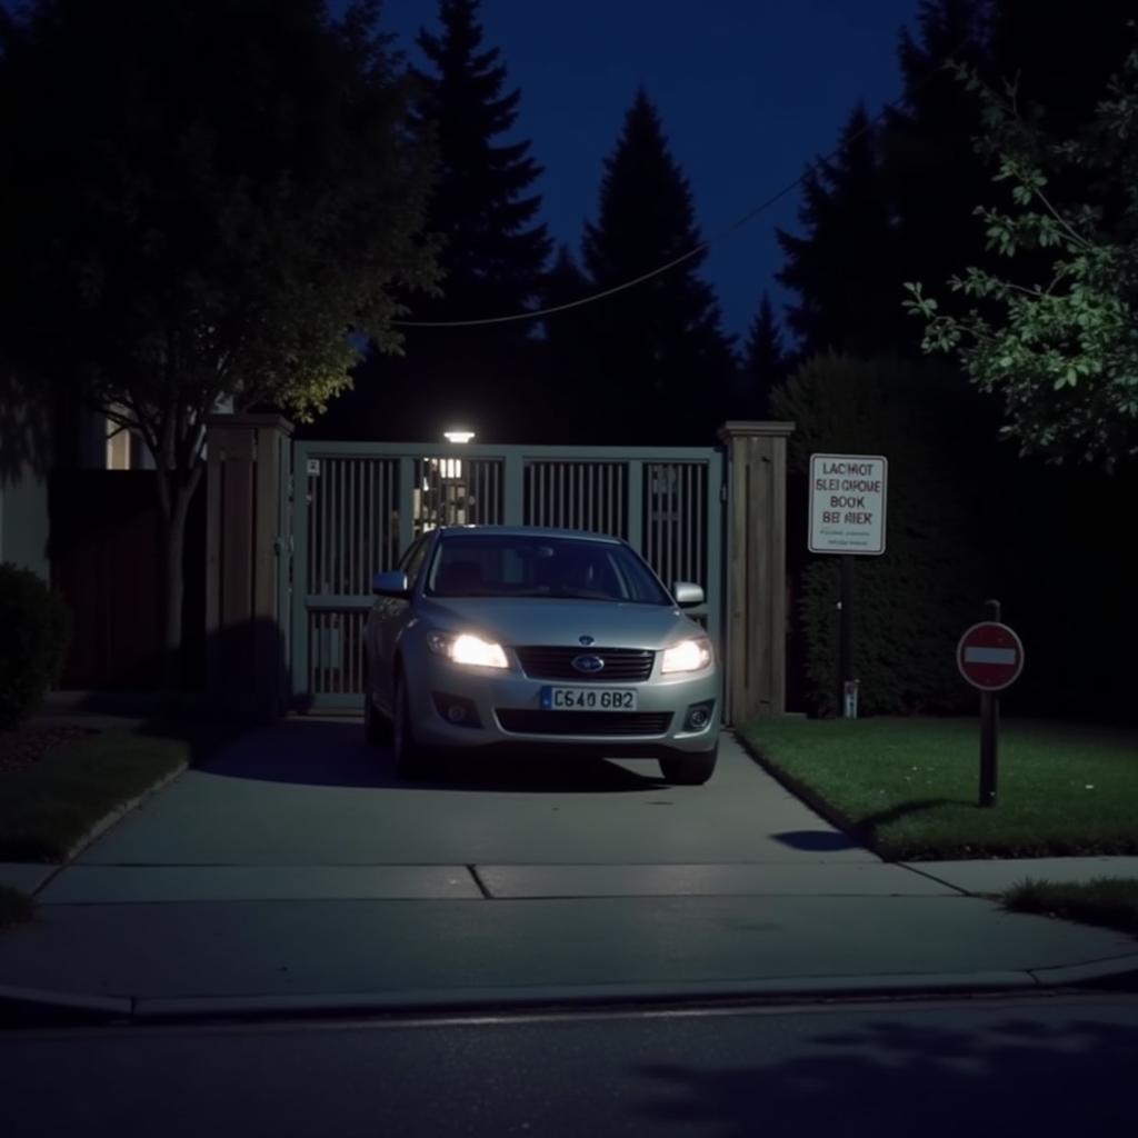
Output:
M0 1024L158 1024L327 1016L621 1012L684 1006L999 996L1106 987L1138 990L1138 953L1044 968L795 976L687 984L552 984L380 992L99 997L0 986Z

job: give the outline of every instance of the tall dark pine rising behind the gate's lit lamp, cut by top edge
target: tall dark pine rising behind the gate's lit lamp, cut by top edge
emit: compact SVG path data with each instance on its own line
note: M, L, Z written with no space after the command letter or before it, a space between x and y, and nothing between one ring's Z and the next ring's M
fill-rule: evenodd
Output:
M479 0L439 0L437 33L418 43L414 129L437 155L427 230L442 238L440 294L406 297L409 321L465 321L521 313L541 295L550 253L530 192L542 171L528 140L504 141L520 92L506 91L498 48L485 48ZM406 330L402 360L372 357L356 390L321 424L341 438L437 440L461 422L480 439L531 442L526 406L541 347L533 323Z

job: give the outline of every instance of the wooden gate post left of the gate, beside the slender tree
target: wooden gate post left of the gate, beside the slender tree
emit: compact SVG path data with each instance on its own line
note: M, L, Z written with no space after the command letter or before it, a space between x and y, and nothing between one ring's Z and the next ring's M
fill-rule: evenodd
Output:
M283 714L288 570L283 535L292 424L280 415L206 420L206 690L237 719Z

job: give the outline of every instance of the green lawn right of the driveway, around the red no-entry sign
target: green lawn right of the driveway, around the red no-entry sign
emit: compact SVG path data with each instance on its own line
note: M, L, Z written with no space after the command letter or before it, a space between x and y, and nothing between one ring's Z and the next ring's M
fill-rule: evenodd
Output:
M883 857L1138 853L1138 731L1005 720L997 805L976 805L980 724L759 719L740 733L824 816Z

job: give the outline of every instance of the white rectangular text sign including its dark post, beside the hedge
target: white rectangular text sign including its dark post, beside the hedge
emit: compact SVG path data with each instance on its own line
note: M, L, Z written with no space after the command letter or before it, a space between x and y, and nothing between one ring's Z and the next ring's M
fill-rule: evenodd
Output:
M841 554L838 602L838 708L857 718L853 678L853 562L885 552L885 484L889 461L880 454L810 455L811 553Z

